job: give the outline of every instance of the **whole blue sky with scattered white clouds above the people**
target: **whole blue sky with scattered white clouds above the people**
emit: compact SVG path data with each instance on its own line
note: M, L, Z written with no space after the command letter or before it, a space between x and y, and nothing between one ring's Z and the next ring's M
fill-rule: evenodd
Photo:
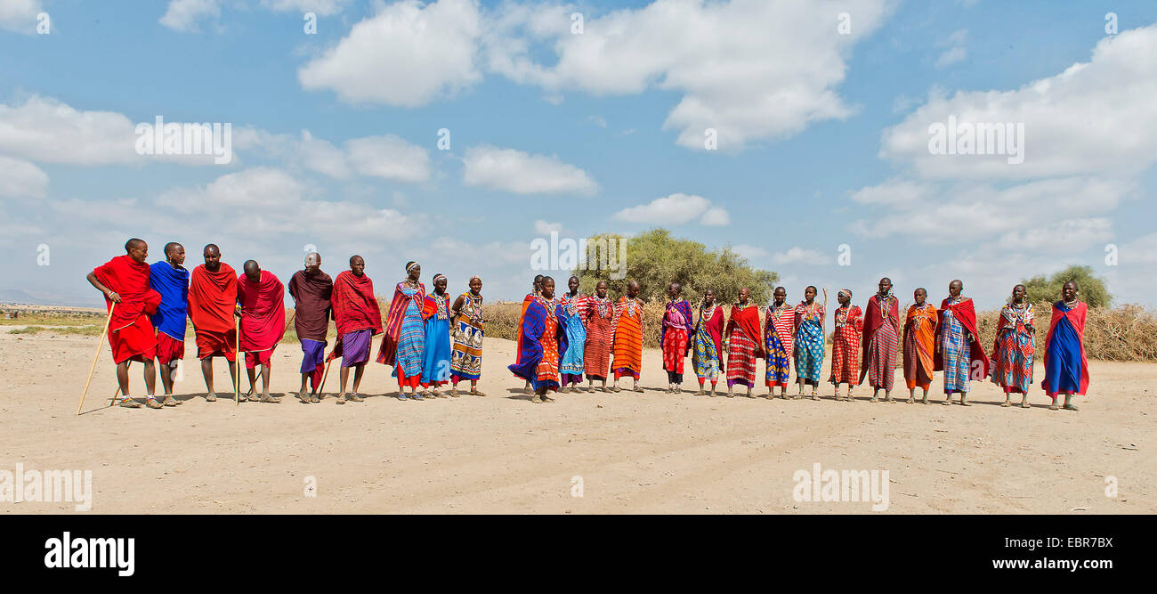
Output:
M315 244L331 274L366 256L379 293L417 259L517 299L535 239L662 225L791 300L887 274L990 308L1071 263L1157 303L1152 2L0 6L0 300L98 305L84 273L134 235L190 267L214 242L288 280ZM1024 163L931 155L949 115L1023 123ZM230 123L233 161L135 154L156 116Z

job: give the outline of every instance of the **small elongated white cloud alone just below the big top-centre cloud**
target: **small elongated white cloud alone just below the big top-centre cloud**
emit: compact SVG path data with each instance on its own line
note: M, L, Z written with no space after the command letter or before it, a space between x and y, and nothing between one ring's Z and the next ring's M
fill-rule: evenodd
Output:
M555 156L532 155L489 145L466 148L463 183L515 193L573 193L591 196L598 190L587 171Z

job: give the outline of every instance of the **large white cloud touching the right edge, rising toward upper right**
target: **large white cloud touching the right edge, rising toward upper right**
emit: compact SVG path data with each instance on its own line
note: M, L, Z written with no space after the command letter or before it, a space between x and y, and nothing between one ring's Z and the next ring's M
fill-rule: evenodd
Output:
M884 131L880 156L929 178L1033 178L1134 175L1157 161L1157 25L1097 43L1088 63L1015 90L934 91L928 102ZM929 126L958 123L1024 125L1024 162L1007 155L931 154Z

